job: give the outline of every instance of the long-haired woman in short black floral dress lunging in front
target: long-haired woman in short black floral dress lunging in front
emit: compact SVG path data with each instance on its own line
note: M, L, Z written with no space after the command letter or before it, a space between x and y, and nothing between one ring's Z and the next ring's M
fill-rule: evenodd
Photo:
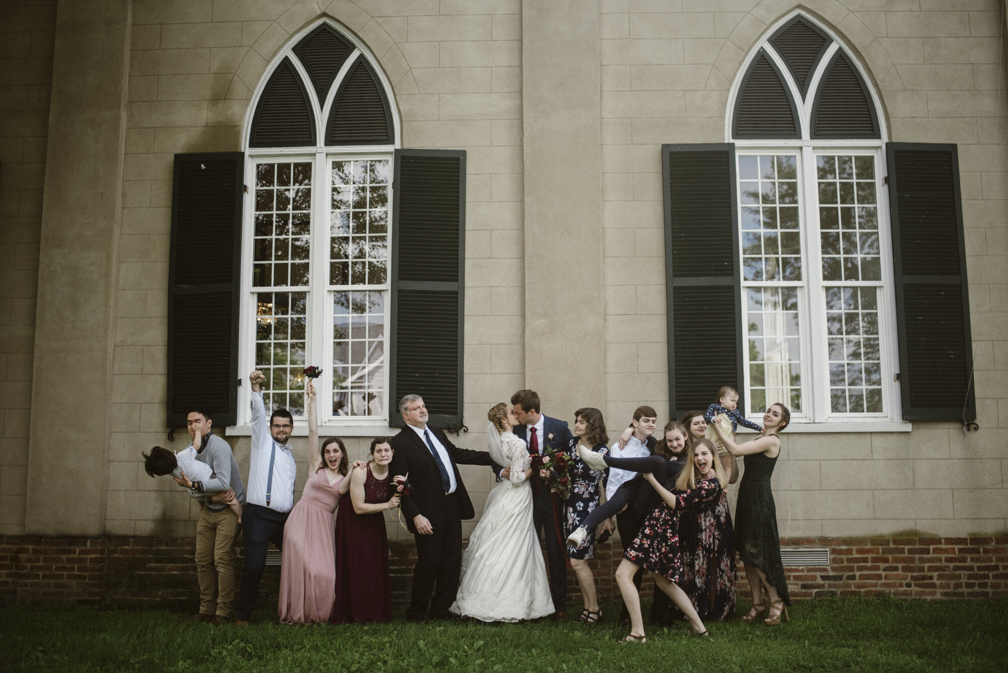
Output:
M691 464L691 467L689 466ZM706 636L704 622L694 609L689 596L682 590L685 579L682 555L679 551L679 517L696 512L721 497L725 470L715 455L714 444L707 439L686 448L686 467L675 484L663 485L654 475L645 475L664 503L644 521L640 533L627 548L616 570L623 602L630 613L630 635L625 641L645 642L644 621L640 613L640 596L633 583L637 568L654 573L655 584L668 594L675 607L686 616L695 633ZM676 493L668 491L671 486Z

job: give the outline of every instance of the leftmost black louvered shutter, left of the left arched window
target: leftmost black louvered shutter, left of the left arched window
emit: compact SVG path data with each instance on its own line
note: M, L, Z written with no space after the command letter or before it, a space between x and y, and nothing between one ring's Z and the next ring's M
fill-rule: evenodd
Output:
M238 417L242 152L175 154L168 264L169 427L203 408Z

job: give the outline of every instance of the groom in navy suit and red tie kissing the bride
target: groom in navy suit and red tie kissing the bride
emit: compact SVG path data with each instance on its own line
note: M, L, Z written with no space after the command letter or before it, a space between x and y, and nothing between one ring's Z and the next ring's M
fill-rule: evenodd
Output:
M540 412L539 394L534 390L519 390L511 396L511 406L518 425L514 433L528 444L529 454L549 448L560 451L568 447L574 435L566 421L550 418ZM502 474L503 470L503 474ZM498 478L507 479L508 470L497 465ZM566 549L563 534L563 501L549 492L538 475L532 475L532 526L546 544L546 565L549 567L549 591L553 596L556 621L566 620Z

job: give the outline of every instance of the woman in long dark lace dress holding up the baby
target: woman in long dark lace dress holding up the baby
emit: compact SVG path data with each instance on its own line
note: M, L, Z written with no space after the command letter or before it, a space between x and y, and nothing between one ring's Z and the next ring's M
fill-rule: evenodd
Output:
M784 564L780 560L780 536L777 533L777 510L770 491L770 477L780 455L777 433L787 427L791 412L783 404L773 404L763 414L763 433L741 444L735 443L718 428L718 436L732 455L744 455L746 472L739 487L735 507L735 548L746 566L746 577L753 592L753 608L743 616L755 622L763 612L763 589L770 598L770 610L763 623L775 627L787 621L791 598L787 594Z

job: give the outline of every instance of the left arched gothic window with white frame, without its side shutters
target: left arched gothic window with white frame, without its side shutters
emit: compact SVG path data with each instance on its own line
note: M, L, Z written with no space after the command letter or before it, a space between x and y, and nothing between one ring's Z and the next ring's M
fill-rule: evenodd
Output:
M324 21L274 58L247 125L242 362L266 408L388 416L392 163L398 124L364 45ZM251 262L250 264L248 262Z

